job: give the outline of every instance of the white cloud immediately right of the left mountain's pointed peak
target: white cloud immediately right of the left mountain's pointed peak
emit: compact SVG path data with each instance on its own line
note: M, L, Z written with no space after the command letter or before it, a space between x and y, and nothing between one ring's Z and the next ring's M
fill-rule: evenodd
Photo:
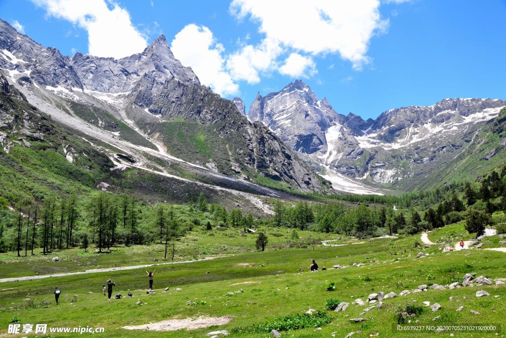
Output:
M186 25L171 44L174 56L192 67L200 82L220 95L237 94L239 86L224 68L223 45L216 42L213 32L205 26Z

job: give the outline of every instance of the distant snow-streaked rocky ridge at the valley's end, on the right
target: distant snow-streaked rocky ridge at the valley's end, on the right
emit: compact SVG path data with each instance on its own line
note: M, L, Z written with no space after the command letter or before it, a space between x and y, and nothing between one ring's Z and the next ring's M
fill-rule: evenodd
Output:
M469 146L473 133L499 115L506 101L444 99L432 106L390 109L364 121L338 114L297 80L251 103L250 121L262 121L335 189L358 184L410 190L438 175ZM351 181L351 182L350 182ZM361 187L360 187L361 186Z

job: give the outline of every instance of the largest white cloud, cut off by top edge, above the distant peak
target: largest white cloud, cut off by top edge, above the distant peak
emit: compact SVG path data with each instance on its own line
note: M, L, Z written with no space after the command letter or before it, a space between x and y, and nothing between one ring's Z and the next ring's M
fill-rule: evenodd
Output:
M233 0L230 9L239 20L249 15L258 22L267 40L313 55L339 53L360 69L370 62L370 38L388 27L379 5L379 0Z

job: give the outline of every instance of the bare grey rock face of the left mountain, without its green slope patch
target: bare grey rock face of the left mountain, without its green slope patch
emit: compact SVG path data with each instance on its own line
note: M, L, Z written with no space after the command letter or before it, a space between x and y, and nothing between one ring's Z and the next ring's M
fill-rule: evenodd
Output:
M159 143L167 142L167 128L162 124L168 121L183 119L205 126L206 136L219 139L223 146L213 147L208 159L221 161L218 170L222 173L241 178L260 174L306 192L327 189L327 183L278 137L264 126L249 123L234 103L202 86L192 69L174 57L163 35L142 53L118 60L80 53L62 56L1 20L0 36L0 68L7 69L19 84L86 105L99 102L101 107L121 110L124 114L113 115L126 124L128 118L135 120L139 129ZM145 115L129 117L136 109ZM192 162L190 153L183 159ZM230 156L223 159L226 153Z

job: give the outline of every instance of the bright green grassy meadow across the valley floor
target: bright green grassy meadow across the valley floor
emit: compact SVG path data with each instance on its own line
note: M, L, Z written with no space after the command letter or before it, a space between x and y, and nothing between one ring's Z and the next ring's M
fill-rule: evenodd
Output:
M443 228L429 234L432 241L438 237L447 236L448 231L458 232L457 226L451 230ZM271 230L275 231L275 230ZM281 232L281 230L279 230ZM286 229L284 232L288 232ZM269 231L268 231L269 234ZM232 234L233 235L233 234ZM310 234L299 232L301 238ZM288 240L285 237L269 236L272 247ZM335 239L333 234L329 238ZM206 246L241 247L233 252L233 256L216 258L214 260L192 262L157 267L154 288L156 293L147 295L147 278L145 269L117 271L110 273L96 273L89 275L72 275L58 278L45 278L33 281L19 281L2 283L0 285L0 336L7 334L8 322L18 317L23 323L45 323L48 326L101 326L105 328L100 336L134 337L137 330L125 330L125 325L140 325L154 323L166 319L184 319L199 316L233 316L229 324L208 327L197 330L180 330L173 332L142 331L143 336L166 337L202 337L209 331L229 330L234 337L266 337L269 332L241 332L239 327L250 327L262 324L266 320L279 316L301 314L308 308L325 310L325 302L329 298L337 298L342 302L349 302L350 307L344 312L328 312L331 322L322 325L321 330L304 328L292 331L281 331L282 336L293 337L325 337L335 332L336 337L345 337L350 332L357 332L354 336L369 336L379 333L379 336L411 336L413 333L400 333L392 330L397 323L396 313L399 307L407 303L422 305L429 301L439 303L442 307L437 312L423 307L423 312L413 318L418 324L491 324L500 323L506 311L502 301L506 297L504 285L485 285L479 287L463 287L453 290L429 290L427 292L411 293L386 299L382 309L372 309L364 312L368 307L351 304L356 298L366 301L368 294L384 291L396 292L415 289L420 284L441 285L462 280L463 275L472 273L476 276L484 275L488 278L505 278L506 266L502 252L488 250L463 250L443 253L438 246L428 248L413 248L419 235L398 239L374 239L372 242L355 241L338 247L317 245L315 249L285 248L265 252L251 252L251 243L255 236L247 235L230 238L223 234L203 236L202 233L192 233L185 237L180 245L193 242ZM492 239L492 237L490 238ZM219 250L217 250L218 253ZM428 253L428 256L416 258L418 252ZM225 253L221 251L221 253ZM70 252L69 255L77 253ZM145 253L146 254L146 253ZM61 256L61 255L60 255ZM104 254L114 258L114 263L134 264L146 259L143 254L127 255L121 253ZM148 255L144 257L148 257ZM123 262L121 262L123 257ZM82 257L82 261L86 261ZM89 259L89 258L87 258ZM102 257L97 258L95 264L103 265ZM311 259L316 259L320 268L328 270L309 273ZM64 263L65 260L58 264ZM353 264L364 264L354 267ZM25 265L28 269L35 266L33 262L10 261L4 267L19 267ZM332 269L333 265L349 266L344 269ZM112 264L111 264L112 265ZM11 268L8 269L13 274ZM302 270L302 271L301 271ZM102 285L108 278L112 278L117 286L113 294L123 295L132 292L133 298L111 299L108 302L101 294ZM329 282L335 282L335 291L326 291ZM60 305L54 304L53 290L58 285L62 289ZM164 288L169 289L163 292ZM179 288L179 289L177 289ZM243 292L235 293L242 289ZM476 297L477 290L486 290L487 297ZM89 293L89 292L93 293ZM228 292L234 292L229 295ZM497 295L498 297L494 297ZM449 297L455 299L450 301ZM74 302L71 304L72 298ZM30 299L27 301L26 299ZM144 303L136 305L138 299ZM192 301L190 304L187 302ZM51 307L44 308L47 303ZM204 303L205 302L205 303ZM464 306L461 312L455 311ZM470 310L480 312L480 315L470 313ZM364 313L363 313L364 312ZM433 322L433 318L441 316ZM352 323L350 318L365 318L361 323ZM86 333L85 333L86 334ZM448 333L444 333L449 335ZM501 336L503 333L498 332ZM68 334L67 336L75 336ZM457 336L463 335L462 333ZM12 336L12 335L11 335ZM52 337L65 336L51 334ZM441 336L436 333L420 333L419 336ZM495 333L466 333L469 337L496 336Z

